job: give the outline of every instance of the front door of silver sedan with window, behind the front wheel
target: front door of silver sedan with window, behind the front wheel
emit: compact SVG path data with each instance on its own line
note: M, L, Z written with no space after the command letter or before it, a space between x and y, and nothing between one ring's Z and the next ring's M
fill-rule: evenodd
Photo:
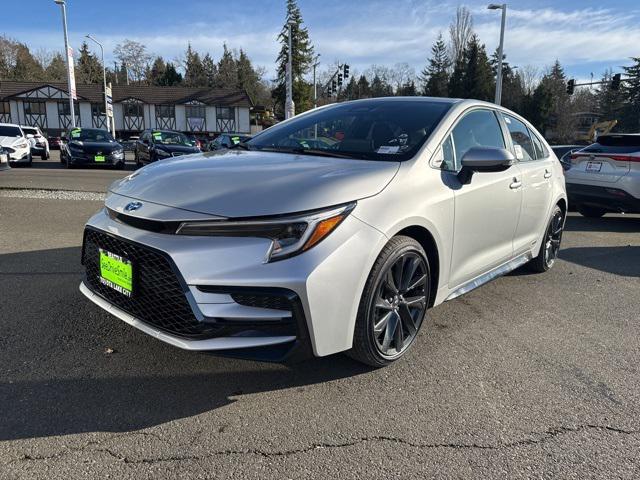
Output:
M471 181L463 185L457 177L462 157L470 148L478 146L506 148L504 132L496 112L491 109L465 113L442 145L447 172L443 180L453 189L455 202L449 277L452 289L513 256L513 236L522 201L520 173L516 165L501 172L476 172Z

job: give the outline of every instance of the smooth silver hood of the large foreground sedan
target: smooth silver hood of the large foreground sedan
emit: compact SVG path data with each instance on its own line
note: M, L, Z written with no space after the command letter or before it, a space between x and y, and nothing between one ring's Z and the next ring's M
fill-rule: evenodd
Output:
M398 162L232 151L152 163L110 191L198 213L256 217L314 210L376 195Z

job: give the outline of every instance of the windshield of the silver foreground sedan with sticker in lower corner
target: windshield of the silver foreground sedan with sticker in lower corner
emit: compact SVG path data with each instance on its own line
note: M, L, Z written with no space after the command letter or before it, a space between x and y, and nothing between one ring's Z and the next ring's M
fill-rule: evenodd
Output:
M450 106L420 100L341 103L271 127L246 146L362 160L408 160Z

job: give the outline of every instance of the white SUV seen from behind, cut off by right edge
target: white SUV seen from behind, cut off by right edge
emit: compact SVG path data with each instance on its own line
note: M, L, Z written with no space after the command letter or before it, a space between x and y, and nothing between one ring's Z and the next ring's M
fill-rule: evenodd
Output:
M571 154L569 202L585 217L640 213L640 134L607 134Z

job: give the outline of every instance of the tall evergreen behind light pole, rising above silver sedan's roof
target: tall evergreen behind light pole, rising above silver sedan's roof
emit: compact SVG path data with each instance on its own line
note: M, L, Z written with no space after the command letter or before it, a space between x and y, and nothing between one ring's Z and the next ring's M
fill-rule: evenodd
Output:
M313 86L304 80L304 75L309 72L313 65L313 45L309 39L309 32L303 26L302 14L296 0L287 0L287 20L292 21L291 27L291 48L292 48L292 78L293 78L293 101L296 112L304 112L313 106ZM289 28L285 26L278 37L281 48L278 58L276 88L273 90L276 107L279 111L284 111L286 99L286 71L287 59L289 56Z

